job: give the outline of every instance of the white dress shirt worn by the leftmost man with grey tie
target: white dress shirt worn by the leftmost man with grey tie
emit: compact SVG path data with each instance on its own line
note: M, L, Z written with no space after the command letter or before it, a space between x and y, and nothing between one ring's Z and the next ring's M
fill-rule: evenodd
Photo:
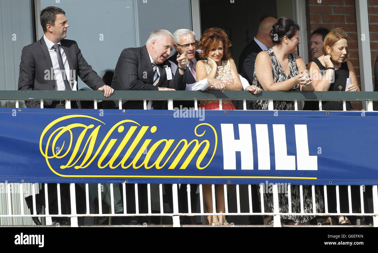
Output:
M45 35L43 35L43 39L45 40L45 43L46 43L46 46L47 46L47 50L48 50L48 52L50 54L51 62L53 63L54 80L55 80L55 90L56 91L65 91L66 88L65 88L65 85L64 85L64 82L63 82L62 72L59 69L58 57L56 55L55 49L53 48L54 42L52 42L51 40L47 39L45 37ZM74 82L74 76L75 76L75 74L72 73L70 75L70 72L71 72L70 71L70 65L68 64L68 60L67 60L66 54L64 53L64 50L62 48L62 45L60 44L60 41L58 42L58 44L60 45L60 47L59 47L60 48L60 55L62 56L62 61L63 61L65 73L66 73L66 77L65 78L67 78L68 83L70 83L71 89L72 90L77 90L76 85L75 85L76 82L74 84L71 83L71 82ZM53 49L51 49L51 48L53 48ZM47 71L51 71L51 70L48 69ZM50 74L48 76L50 76Z

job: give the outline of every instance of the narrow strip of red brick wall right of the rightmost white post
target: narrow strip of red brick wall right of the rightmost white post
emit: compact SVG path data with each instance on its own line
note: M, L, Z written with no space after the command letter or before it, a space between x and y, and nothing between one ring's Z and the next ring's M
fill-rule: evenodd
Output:
M370 53L374 83L374 64L378 55L378 0L369 0L367 3L367 12L369 14Z

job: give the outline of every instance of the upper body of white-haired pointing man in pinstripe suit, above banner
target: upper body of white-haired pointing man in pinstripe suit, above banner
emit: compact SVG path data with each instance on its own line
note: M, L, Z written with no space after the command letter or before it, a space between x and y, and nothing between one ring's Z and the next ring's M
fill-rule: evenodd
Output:
M150 34L146 45L126 48L119 56L112 81L115 90L185 90L187 56L177 55L179 71L173 76L167 58L173 49L173 36L167 30L156 30ZM125 109L143 109L141 101L128 101ZM153 102L154 109L167 109L167 103Z

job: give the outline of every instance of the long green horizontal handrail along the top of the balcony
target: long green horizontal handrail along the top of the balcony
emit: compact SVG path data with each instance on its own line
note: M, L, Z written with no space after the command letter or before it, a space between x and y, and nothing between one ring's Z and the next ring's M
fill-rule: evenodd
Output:
M0 100L205 100L205 99L274 99L274 100L378 100L378 92L339 91L262 91L254 95L248 91L115 91L104 97L102 91L0 91Z

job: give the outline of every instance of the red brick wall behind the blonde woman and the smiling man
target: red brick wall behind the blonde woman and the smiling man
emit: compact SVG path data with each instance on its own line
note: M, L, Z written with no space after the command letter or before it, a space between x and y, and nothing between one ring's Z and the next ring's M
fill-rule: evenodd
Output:
M319 1L320 2L320 1ZM372 12L377 14L375 21L378 22L378 0L370 1L370 8ZM374 5L371 4L374 2ZM376 5L375 5L376 4ZM370 12L369 12L370 15ZM369 17L370 18L370 17ZM374 18L373 18L374 19ZM330 30L335 28L342 28L347 32L348 36L348 47L350 57L349 60L353 64L357 81L361 87L360 77L359 77L359 61L358 61L358 35L356 26L356 3L355 0L306 0L306 21L307 21L307 41L308 41L308 61L310 62L311 48L310 48L310 36L311 33L316 30L319 26L323 26ZM370 23L369 23L370 24ZM376 26L376 27L375 27ZM370 28L370 25L369 25ZM375 39L377 40L377 46L375 47L376 54L378 54L378 23L374 25L376 29ZM375 60L375 58L374 58ZM361 103L352 103L354 109L361 110Z

